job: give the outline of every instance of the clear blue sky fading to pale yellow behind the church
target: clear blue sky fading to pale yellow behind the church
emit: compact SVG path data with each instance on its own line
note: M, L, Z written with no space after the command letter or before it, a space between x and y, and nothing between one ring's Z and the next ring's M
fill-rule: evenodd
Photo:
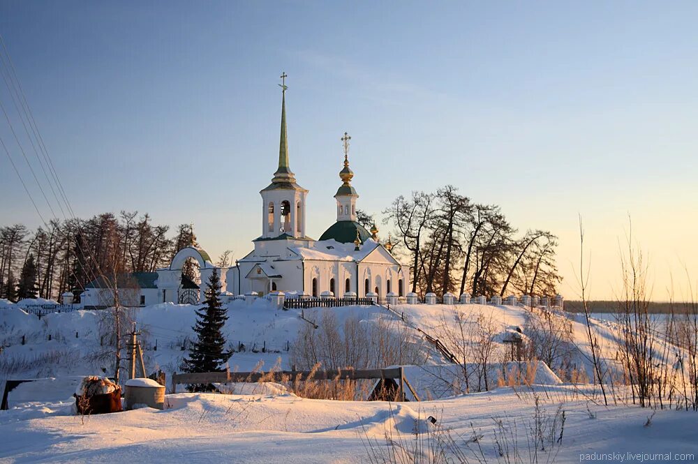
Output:
M359 208L378 218L396 196L446 184L498 204L521 232L558 235L567 299L580 215L591 298L618 290L629 218L653 299L686 297L685 269L696 291L696 17L690 1L0 0L0 34L77 216L193 222L211 256L246 255L276 170L285 71L311 237L336 219L346 130ZM21 167L4 119L0 137ZM1 155L0 225L37 227Z

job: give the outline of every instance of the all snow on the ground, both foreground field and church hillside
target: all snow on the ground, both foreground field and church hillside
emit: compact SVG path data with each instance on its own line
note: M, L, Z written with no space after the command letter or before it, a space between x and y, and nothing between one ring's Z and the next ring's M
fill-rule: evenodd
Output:
M620 453L626 462L640 459L625 453L664 455L655 456L653 461L643 456L644 462L695 461L671 461L667 453L692 453L698 458L695 413L657 411L653 415L652 410L627 404L604 407L593 386L562 384L545 364L536 365L532 377L535 387L499 387L484 393L460 394L472 389L452 388L450 382L459 370L445 364L441 354L428 343L424 363L406 367L406 377L422 400L434 398L431 401L320 401L298 398L274 384L237 384L232 395L170 394L165 401L168 409L164 411L94 416L84 418L83 424L82 417L73 415L70 398L80 376L112 374L110 357L98 356L105 351L105 313L75 311L39 319L16 305L0 303L0 392L6 378L56 377L22 384L11 394L11 409L0 412L0 462L371 462L377 454L387 452L386 433L399 446L413 446L415 421L425 433L438 434L438 428L450 431L454 443L465 450L470 462L480 462L476 456L480 452L486 462L497 461L497 442L501 444L507 436L510 442L517 437L522 462L531 462L528 453L535 446L532 449L526 437L530 440L533 433L535 398L542 423L552 424L555 419L559 427L561 411L565 411L561 444L557 442L559 429L549 432L547 435L555 435L551 440L554 444L547 443L546 451L539 451L537 462L611 461L586 458L593 457L586 456L593 453ZM168 377L179 371L181 359L187 354L187 340L193 339L194 310L188 305L158 304L134 311L149 371L162 368ZM424 333L439 338L456 355L459 347L447 336L459 329L454 311L461 313L463 336L468 343L477 338L483 324L489 324L500 350L498 357L491 359L494 387L506 382L492 377L511 368L501 364L506 361L502 341L517 328L525 331L530 317L523 308L489 305L323 310L334 313L339 327L350 317L361 324L393 321L395 327L402 327L415 340L423 338ZM321 324L318 311L322 310L306 310L304 316ZM311 324L299 317L300 311L277 310L265 300L254 304L233 301L228 315L224 333L235 350L230 359L233 371L250 371L260 362L265 369L277 363L290 368L292 351L288 349L299 331ZM575 361L584 366L589 357L584 317L566 313L554 317L569 327ZM595 320L593 324L601 340L602 355L613 364L612 340L617 328L608 321ZM242 345L244 350L240 350ZM464 361L472 363L473 359ZM469 369L476 370L473 366ZM443 382L435 385L434 379ZM436 425L426 421L429 416L436 417ZM652 417L651 424L644 426L648 417ZM474 435L482 437L473 440ZM510 452L512 446L510 443ZM503 457L500 459L506 462Z

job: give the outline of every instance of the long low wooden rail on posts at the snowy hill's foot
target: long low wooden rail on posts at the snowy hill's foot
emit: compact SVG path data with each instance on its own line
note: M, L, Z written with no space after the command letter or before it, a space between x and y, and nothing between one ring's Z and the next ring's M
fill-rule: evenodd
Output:
M312 375L311 375L312 374ZM271 371L271 372L204 372L172 374L172 391L177 391L181 384L213 384L231 382L289 382L304 380L392 380L399 385L401 401L405 400L404 387L408 387L419 401L412 385L405 378L402 366L385 369L329 369L327 371Z

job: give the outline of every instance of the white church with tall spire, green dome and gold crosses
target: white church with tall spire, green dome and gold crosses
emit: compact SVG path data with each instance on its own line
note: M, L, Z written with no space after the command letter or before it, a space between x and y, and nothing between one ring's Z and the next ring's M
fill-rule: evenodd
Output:
M282 85L281 137L279 165L272 183L262 195L262 234L253 240L254 250L225 273L226 290L232 294L272 291L320 297L332 292L335 297L379 299L389 293L404 296L409 272L357 222L359 195L351 185L354 173L349 167L350 137L345 133L344 167L339 172L342 184L334 195L336 221L319 240L306 236L306 198L308 190L299 186L290 170L286 137L285 91Z

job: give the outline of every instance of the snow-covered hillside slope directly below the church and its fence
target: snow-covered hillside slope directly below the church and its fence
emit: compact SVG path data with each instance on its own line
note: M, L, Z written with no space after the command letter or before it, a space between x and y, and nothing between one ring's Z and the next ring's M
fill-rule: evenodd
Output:
M161 368L170 375L181 370L181 360L187 354L188 343L194 338L195 308L190 305L157 304L133 310L131 317L141 332L140 340L149 371ZM265 299L258 299L253 304L231 301L228 305L230 319L224 329L228 347L234 352L230 369L251 371L260 364L262 369L275 365L291 368L295 362L294 354L297 354L293 347L303 331L311 334L323 332L330 329L324 324L332 323L342 334L349 320L355 320L362 327L371 327L374 331L395 331L399 332L397 336L409 338L410 343L419 345L417 348L424 351L423 356L415 355L421 359L419 364L449 362L442 352L426 343L426 336L438 338L460 363L482 361L477 359L479 354L473 347L491 338L493 354L487 362L502 363L512 360L512 346L505 343L507 339L517 336L517 331L523 332L523 338L550 336L541 329L547 323L552 324L552 331L559 331L563 336L560 340L551 341L558 345L554 353L549 354L549 359L542 355L537 359L549 364L563 380L569 380L573 369L583 372L587 379L593 379L586 325L584 316L579 314L563 311L543 314L540 310L532 313L520 306L477 304L403 304L389 310L383 306L346 306L306 310L306 320L299 317L302 313L300 310L278 310ZM325 317L328 313L332 315L331 322ZM18 305L3 302L0 307L0 345L4 347L0 354L0 382L8 376L112 375L112 359L105 354L107 338L110 337L105 314L99 310L80 310L54 313L38 319L25 313ZM609 321L592 322L600 340L601 356L612 368L618 364L614 344L618 327ZM319 331L313 331L313 324L319 326ZM657 352L660 352L661 340L655 343L658 344ZM297 347L302 345L297 344ZM386 361L386 364L394 363ZM414 359L407 359L403 364L417 363ZM496 378L490 380L496 382ZM492 387L491 382L487 387ZM477 389L482 389L482 386ZM464 391L473 391L473 387Z

